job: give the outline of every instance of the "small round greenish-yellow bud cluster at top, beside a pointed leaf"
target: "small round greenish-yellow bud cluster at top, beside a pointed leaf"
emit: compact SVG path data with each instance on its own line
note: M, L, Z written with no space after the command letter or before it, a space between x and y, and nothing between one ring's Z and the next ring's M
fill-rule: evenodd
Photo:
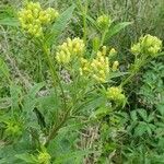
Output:
M97 25L102 30L108 27L110 25L110 23L112 23L110 17L108 15L105 15L105 14L98 16L96 22L97 22Z

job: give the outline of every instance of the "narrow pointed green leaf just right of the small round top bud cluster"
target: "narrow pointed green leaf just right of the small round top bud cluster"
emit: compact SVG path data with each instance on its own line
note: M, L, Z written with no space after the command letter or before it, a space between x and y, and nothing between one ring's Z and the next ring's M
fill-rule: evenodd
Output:
M105 40L107 42L112 36L116 35L117 33L119 33L121 30L124 30L126 26L132 24L131 22L122 22L122 23L118 23L114 26L110 26L108 30L108 33L106 34L106 38Z

